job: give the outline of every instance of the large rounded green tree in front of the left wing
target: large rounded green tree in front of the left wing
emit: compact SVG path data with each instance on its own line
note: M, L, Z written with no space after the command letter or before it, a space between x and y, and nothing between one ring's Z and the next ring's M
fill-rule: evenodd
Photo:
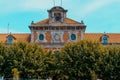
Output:
M12 77L17 68L22 78L41 78L45 51L37 44L18 42L8 47L5 60L5 77Z

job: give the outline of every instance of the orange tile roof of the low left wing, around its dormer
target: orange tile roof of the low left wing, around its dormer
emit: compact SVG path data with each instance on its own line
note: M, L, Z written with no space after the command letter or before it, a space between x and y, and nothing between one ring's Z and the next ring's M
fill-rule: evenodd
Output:
M30 42L30 34L11 34L11 35L16 38L14 42L17 42L20 40ZM0 42L6 43L8 36L9 34L0 34Z

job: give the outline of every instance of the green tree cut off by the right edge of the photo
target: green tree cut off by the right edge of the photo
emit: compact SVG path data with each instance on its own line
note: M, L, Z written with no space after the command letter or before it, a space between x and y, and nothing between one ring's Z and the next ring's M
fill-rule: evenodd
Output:
M106 53L100 65L103 80L120 79L120 46L105 47Z

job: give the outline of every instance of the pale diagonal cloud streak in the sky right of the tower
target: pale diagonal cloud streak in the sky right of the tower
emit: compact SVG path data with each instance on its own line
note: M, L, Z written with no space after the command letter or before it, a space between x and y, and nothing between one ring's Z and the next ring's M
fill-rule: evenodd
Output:
M94 1L91 1L90 3L82 6L80 15L84 17L106 5L112 4L117 1L119 2L119 0L94 0Z

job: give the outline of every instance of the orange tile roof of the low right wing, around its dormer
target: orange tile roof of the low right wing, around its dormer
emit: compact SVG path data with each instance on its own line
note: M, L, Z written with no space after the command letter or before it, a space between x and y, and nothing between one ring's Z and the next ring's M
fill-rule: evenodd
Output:
M103 35L103 33L85 33L84 39L101 42ZM120 43L120 33L107 33L106 35L108 36L108 43Z

